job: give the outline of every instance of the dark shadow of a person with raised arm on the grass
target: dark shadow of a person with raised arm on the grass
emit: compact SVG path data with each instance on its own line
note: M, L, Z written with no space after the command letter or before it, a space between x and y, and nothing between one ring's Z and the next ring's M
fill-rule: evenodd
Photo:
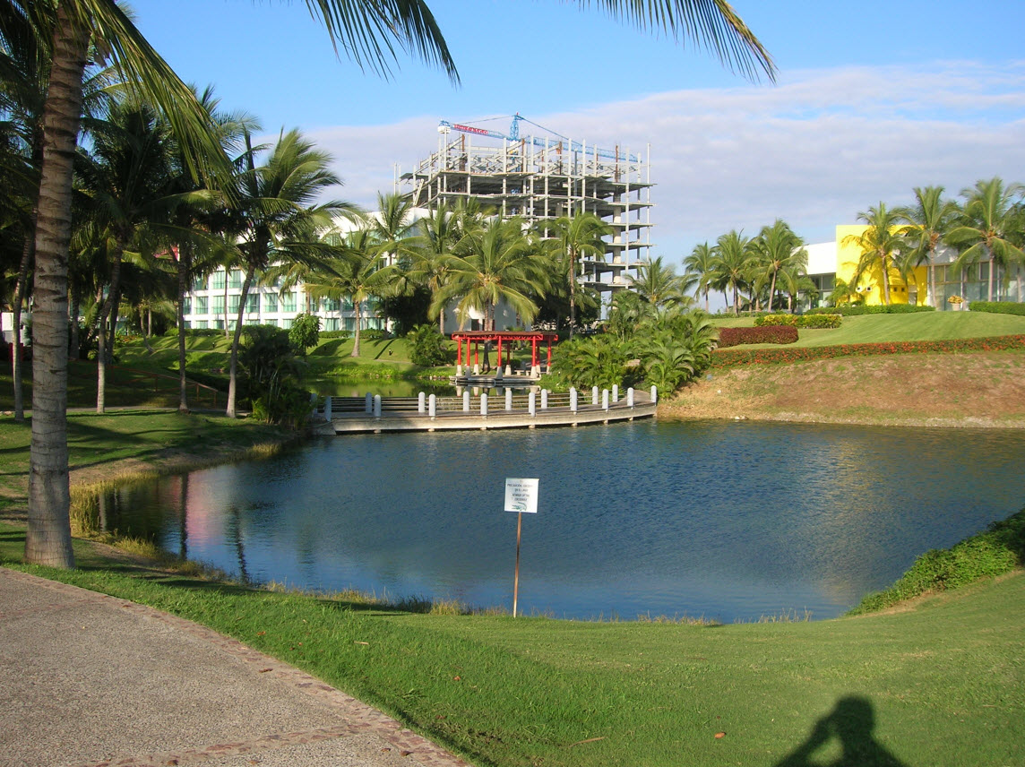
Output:
M874 726L875 716L867 698L843 697L815 723L808 739L774 767L907 767L875 740ZM813 760L833 738L839 740L839 757L828 764Z

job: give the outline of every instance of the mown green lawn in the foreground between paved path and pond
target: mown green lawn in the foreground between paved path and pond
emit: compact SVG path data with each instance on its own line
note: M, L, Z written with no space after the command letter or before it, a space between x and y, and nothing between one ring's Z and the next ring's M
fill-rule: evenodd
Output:
M0 529L0 558L19 546ZM79 560L27 569L210 625L479 765L768 767L831 714L828 742L790 764L833 763L840 737L844 764L1025 757L1020 571L899 613L695 627L414 615Z

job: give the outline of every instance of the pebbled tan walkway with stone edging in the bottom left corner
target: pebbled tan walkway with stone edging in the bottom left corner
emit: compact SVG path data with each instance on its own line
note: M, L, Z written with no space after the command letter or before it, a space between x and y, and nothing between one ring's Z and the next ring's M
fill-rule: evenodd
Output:
M467 767L204 627L0 567L0 767Z

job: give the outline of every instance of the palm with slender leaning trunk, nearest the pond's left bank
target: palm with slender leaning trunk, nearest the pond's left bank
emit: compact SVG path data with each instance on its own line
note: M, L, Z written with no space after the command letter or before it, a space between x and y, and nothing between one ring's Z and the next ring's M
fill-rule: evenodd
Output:
M332 158L315 149L297 130L282 132L265 162L256 166L249 134L245 134L246 169L235 190L239 264L245 269L242 294L232 337L228 381L228 416L235 417L239 341L246 298L257 273L275 263L316 261L318 234L333 216L353 210L348 203L315 201L340 180L329 169Z

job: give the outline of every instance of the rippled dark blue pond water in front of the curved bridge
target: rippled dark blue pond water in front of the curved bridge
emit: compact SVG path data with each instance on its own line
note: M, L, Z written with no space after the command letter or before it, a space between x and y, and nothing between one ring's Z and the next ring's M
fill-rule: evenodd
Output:
M258 581L556 617L835 616L1025 503L1025 434L751 421L328 437L163 478L109 527Z

